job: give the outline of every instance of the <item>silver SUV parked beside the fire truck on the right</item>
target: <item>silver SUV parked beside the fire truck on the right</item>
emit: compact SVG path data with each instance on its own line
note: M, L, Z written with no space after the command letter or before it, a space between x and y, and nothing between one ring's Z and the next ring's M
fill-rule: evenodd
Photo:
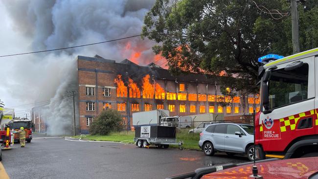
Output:
M254 127L249 124L220 123L208 125L200 133L199 147L207 156L215 152L246 154L253 160Z

